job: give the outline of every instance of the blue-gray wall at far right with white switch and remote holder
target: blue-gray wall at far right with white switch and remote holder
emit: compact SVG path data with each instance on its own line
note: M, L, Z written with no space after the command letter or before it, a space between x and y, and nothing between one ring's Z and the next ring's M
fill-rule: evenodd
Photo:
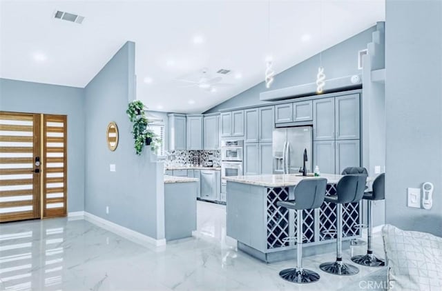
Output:
M442 236L442 1L387 0L385 23L386 221ZM407 208L426 181L432 210Z

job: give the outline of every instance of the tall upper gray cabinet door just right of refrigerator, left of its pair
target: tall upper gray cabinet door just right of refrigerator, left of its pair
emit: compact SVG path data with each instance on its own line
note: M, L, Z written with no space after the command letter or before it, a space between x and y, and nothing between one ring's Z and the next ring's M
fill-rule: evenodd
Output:
M334 136L334 98L313 101L313 140L332 140Z

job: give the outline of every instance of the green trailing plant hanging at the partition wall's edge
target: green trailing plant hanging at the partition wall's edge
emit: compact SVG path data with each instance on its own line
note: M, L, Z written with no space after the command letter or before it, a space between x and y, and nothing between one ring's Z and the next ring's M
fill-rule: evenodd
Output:
M144 145L151 145L151 150L156 150L158 138L156 134L148 128L149 121L144 113L144 104L142 101L136 100L129 103L126 113L132 122L135 153L141 154Z

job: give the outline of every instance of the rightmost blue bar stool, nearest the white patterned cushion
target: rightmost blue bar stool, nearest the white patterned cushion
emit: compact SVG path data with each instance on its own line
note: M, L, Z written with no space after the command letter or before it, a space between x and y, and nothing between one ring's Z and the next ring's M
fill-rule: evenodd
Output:
M372 249L372 234L373 234L373 214L372 201L385 199L385 173L380 174L373 182L373 190L365 192L363 199L367 200L367 221L368 221L368 236L367 236L367 254L354 256L352 261L359 265L366 265L367 267L382 267L385 265L385 260L378 259L373 254Z

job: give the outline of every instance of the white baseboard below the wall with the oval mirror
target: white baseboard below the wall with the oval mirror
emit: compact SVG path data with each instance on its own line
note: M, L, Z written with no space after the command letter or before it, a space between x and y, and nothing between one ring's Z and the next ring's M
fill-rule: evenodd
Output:
M119 234L126 239L130 239L135 243L140 243L141 245L145 245L146 243L155 246L166 245L166 239L153 239L152 237L148 237L140 232L136 232L135 230L130 230L122 225L118 225L117 223L113 223L106 219L102 219L101 217L97 217L96 215L90 214L86 211L84 212L84 219L90 223L98 225L101 228L114 232L115 234Z

